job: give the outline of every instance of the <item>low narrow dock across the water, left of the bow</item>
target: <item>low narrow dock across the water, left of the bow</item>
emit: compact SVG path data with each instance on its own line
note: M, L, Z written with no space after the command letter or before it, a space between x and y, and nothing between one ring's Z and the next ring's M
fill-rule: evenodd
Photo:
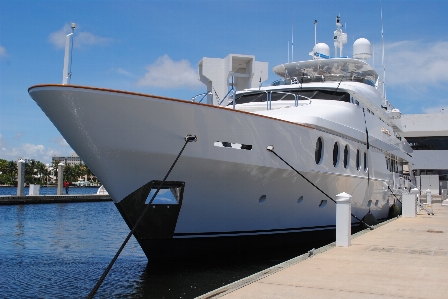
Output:
M29 196L0 196L0 205L44 204L44 203L72 203L111 201L110 195L73 194L73 195L29 195Z

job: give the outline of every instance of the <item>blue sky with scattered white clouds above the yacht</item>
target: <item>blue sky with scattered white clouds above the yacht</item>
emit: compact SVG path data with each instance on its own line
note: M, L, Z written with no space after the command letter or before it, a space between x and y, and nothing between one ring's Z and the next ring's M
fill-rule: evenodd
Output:
M381 21L381 6L383 22ZM70 156L73 150L28 95L36 84L61 83L65 36L76 23L71 84L180 99L205 92L203 57L254 55L272 68L308 60L317 41L334 55L340 15L352 56L367 38L368 62L382 75L387 99L403 114L448 110L448 1L398 0L0 0L0 159ZM448 118L447 118L448 119Z

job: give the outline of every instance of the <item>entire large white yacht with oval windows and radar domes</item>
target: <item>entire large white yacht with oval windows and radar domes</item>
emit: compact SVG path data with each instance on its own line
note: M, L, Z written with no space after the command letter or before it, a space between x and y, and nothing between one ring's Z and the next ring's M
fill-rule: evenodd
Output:
M204 103L56 84L29 94L129 227L150 204L134 232L148 259L297 244L334 234L329 197L342 192L352 195L353 224L368 213L386 219L390 190L411 165L400 113L365 61L370 43L359 39L354 57L341 57L347 36L337 25L339 57L316 44L312 60L274 67L281 79L272 86L224 68L222 77L234 79L228 96L207 81ZM230 67L256 67L248 56L229 57Z

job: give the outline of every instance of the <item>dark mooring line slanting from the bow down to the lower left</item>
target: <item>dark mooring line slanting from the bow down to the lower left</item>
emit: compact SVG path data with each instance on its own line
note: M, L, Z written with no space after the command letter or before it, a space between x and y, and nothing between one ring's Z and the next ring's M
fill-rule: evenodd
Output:
M143 212L140 214L140 217L137 219L137 222L135 222L134 226L132 227L131 231L129 232L128 236L126 237L126 239L124 240L123 244L121 244L120 249L118 249L117 253L115 254L114 258L112 259L112 261L109 263L109 265L107 266L106 270L104 271L103 275L101 275L100 279L97 281L96 285L93 287L93 289L90 291L89 295L87 296L88 299L92 299L96 292L98 291L98 289L100 288L101 284L103 283L104 279L106 278L107 274L109 273L110 269L112 269L112 266L114 265L115 261L118 259L118 256L120 255L121 251L123 250L123 248L126 246L126 243L129 241L129 239L131 238L132 234L134 233L135 229L137 228L137 226L140 224L140 221L143 219L143 216L145 215L146 211L148 210L148 208L150 207L151 203L153 202L154 198L157 196L157 194L159 193L160 189L162 188L163 184L165 183L166 179L168 178L168 175L171 173L171 170L173 170L174 165L176 165L177 160L179 160L180 155L182 155L182 152L184 151L185 147L187 146L188 142L196 142L198 139L196 137L196 135L187 135L185 136L185 143L184 146L182 147L182 149L180 150L179 154L176 157L176 160L174 160L173 164L170 167L170 170L168 170L167 174L165 175L165 177L163 178L163 181L160 183L159 187L157 188L157 191L154 193L154 195L152 196L151 200L149 201L149 203L146 205L146 208L143 210Z

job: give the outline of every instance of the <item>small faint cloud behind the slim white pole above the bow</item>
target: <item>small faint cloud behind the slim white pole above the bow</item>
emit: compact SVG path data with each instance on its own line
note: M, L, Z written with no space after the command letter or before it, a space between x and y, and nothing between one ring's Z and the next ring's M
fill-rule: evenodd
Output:
M58 31L50 33L50 35L48 36L48 41L52 43L56 48L63 49L65 48L65 37L71 32L72 29L70 25L65 24ZM85 46L106 45L111 41L111 38L98 36L86 31L75 30L73 47L82 48Z

